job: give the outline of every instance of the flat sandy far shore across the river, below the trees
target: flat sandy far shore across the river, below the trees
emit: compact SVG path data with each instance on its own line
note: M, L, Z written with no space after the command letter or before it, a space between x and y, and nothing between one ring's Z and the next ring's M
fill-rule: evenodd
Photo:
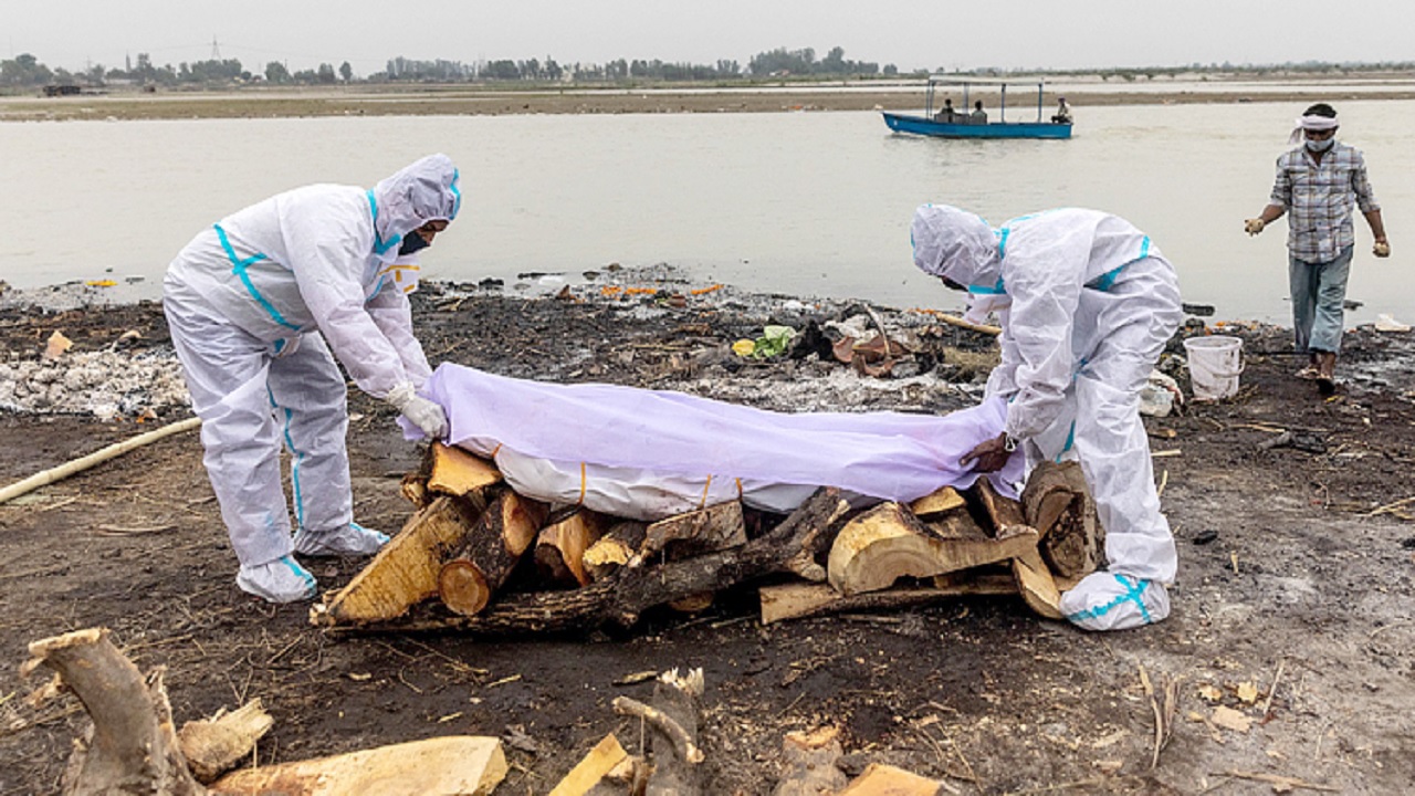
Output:
M1323 101L1415 99L1415 82L1324 81L1292 84L1268 81L1224 86L1214 82L1142 82L1133 89L1116 82L1065 85L1067 102L1078 112L1108 105L1227 105L1240 102L1302 103ZM1007 93L1009 115L1026 118L1037 106L1036 91L1024 81ZM1290 85L1290 91L1286 88ZM962 92L949 96L962 105ZM995 89L972 91L989 110L999 106ZM1050 115L1056 88L1047 86L1041 110ZM766 85L702 88L539 88L507 91L467 85L243 88L239 91L163 89L154 93L115 88L103 93L41 98L0 96L0 122L130 120L130 119L256 119L299 116L501 116L531 113L770 113L815 110L921 112L923 85ZM1016 109L1016 110L1013 110Z

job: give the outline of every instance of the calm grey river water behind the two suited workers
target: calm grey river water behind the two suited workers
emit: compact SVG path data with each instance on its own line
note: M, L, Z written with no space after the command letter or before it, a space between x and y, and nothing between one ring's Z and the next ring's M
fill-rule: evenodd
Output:
M1382 312L1409 322L1415 102L1336 105L1395 252L1374 259L1357 218L1348 296L1364 306L1348 323ZM423 258L430 278L515 286L525 272L574 280L611 262L668 262L757 290L957 307L911 265L916 205L957 204L995 224L1080 205L1149 232L1186 300L1286 323L1286 228L1249 239L1242 220L1266 203L1298 110L1078 108L1068 142L897 136L869 112L3 123L0 279L132 278L129 292L156 297L171 256L226 212L304 183L368 186L444 152L466 200Z

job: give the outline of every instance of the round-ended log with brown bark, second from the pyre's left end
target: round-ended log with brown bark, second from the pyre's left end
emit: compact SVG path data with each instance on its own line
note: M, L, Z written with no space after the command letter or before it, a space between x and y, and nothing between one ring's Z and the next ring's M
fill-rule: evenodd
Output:
M497 496L437 574L443 605L463 616L485 608L535 541L546 514L549 507L538 500L511 490Z

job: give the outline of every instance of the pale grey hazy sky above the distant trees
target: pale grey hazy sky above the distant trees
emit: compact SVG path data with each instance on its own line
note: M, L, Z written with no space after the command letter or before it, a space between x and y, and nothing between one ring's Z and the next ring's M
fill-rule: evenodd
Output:
M50 67L239 58L260 71L396 55L746 67L764 50L914 68L1075 68L1415 59L1409 0L0 0L0 48Z

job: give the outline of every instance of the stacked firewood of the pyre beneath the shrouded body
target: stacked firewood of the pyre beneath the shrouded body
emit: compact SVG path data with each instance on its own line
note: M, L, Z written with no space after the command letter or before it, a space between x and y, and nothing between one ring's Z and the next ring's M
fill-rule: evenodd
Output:
M402 490L413 517L316 605L316 625L628 626L657 606L702 610L744 585L760 588L764 623L1003 593L1058 619L1060 592L1095 569L1102 547L1074 463L1037 467L1020 501L979 479L962 491L852 510L822 487L785 518L729 501L641 523L525 497L491 462L437 443Z

